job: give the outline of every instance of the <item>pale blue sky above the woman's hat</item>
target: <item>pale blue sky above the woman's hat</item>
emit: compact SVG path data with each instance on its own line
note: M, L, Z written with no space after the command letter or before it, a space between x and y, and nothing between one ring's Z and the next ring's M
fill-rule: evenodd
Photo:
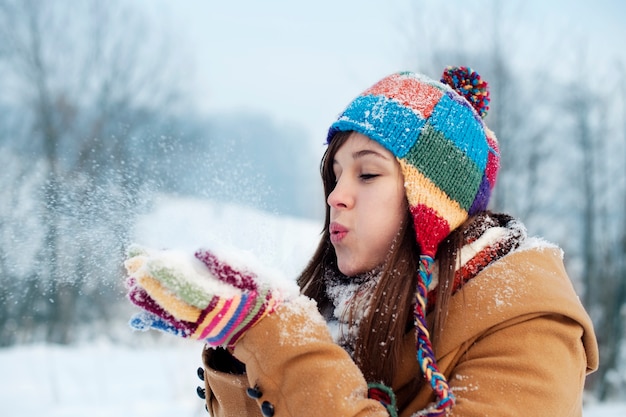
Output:
M410 32L419 36L419 30L411 27L415 3L428 7L434 16L432 25L439 25L442 34L458 24L490 25L488 18L463 23L460 10L493 8L491 0L149 3L157 9L155 5L161 4L157 14L166 12L168 24L176 28L196 61L195 89L202 111L265 113L279 123L302 125L316 143L361 90L393 71L419 69L410 49L415 48L411 43L415 33ZM601 71L614 57L621 57L626 65L625 4L621 0L527 0L503 13L503 25L515 25L518 39L529 41L528 48L542 45L560 50L559 61L550 66L575 65L568 53L584 47L592 57L592 70ZM431 18L427 19L429 24ZM576 40L584 38L588 46ZM477 39L473 41L485 41ZM545 62L554 55L538 51L536 56Z

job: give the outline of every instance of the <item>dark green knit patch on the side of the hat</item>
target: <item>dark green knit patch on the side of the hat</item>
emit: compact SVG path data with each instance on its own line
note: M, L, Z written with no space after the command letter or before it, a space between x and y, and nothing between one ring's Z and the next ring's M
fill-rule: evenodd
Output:
M464 210L470 209L482 173L443 133L427 123L405 159Z

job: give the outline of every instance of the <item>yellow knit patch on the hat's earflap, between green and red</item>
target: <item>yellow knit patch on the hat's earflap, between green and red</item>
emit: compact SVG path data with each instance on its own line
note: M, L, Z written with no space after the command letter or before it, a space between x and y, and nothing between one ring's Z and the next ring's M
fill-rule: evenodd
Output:
M451 200L413 165L403 159L398 159L398 161L404 175L404 188L411 207L421 204L432 208L448 222L450 230L456 229L467 219L467 211L463 210L458 202Z

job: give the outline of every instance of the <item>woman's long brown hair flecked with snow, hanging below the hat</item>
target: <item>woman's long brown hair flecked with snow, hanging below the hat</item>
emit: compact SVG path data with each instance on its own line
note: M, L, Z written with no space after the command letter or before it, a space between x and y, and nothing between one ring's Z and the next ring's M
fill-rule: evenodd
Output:
M337 133L322 157L320 172L326 197L324 201L328 200L335 186L333 159L351 133ZM343 276L337 268L337 256L330 243L329 224L330 207L326 205L326 218L320 243L298 278L302 293L317 301L322 314L331 307L326 295L325 272L330 270L338 276ZM354 360L365 378L368 381L383 382L388 386L392 386L397 365L400 363L402 340L413 328L414 294L420 255L412 217L408 210L407 219L403 224L395 243L390 248L380 281L374 289L371 308L360 321L354 351ZM437 292L435 326L431 331L431 334L434 334L435 349L436 341L439 340L445 324L445 309L451 295L460 236L460 233L453 232L442 242L438 251L441 253L437 257L440 290ZM421 378L416 378L415 383L420 382Z

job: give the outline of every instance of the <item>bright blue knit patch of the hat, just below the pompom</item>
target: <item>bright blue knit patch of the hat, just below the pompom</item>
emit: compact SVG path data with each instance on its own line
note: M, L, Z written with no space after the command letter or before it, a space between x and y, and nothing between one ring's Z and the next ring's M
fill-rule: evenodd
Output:
M445 94L433 109L429 122L469 156L481 171L485 169L488 154L485 131L467 103Z

